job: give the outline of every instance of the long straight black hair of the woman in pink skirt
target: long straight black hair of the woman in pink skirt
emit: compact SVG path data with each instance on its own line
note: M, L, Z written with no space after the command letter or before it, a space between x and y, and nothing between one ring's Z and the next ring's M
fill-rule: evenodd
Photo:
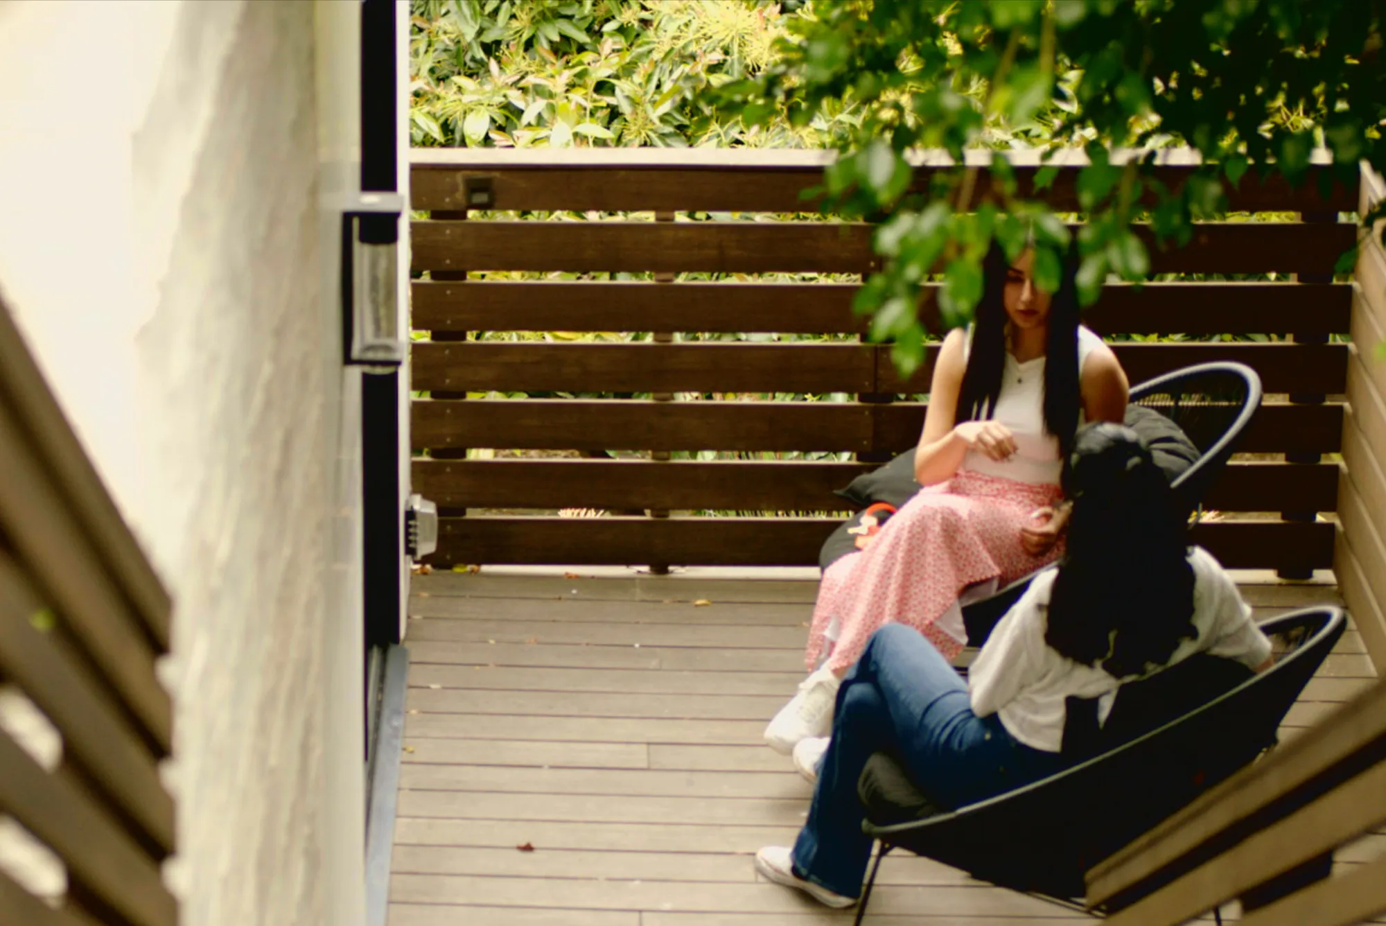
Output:
M1001 245L992 243L983 258L985 288L977 304L972 330L972 349L967 370L958 394L958 421L980 421L992 416L1001 378L1006 365L1006 273L1010 261ZM1059 448L1067 453L1073 446L1073 433L1078 427L1082 390L1078 381L1078 270L1077 248L1070 248L1063 261L1059 291L1049 302L1048 337L1044 363L1044 426L1059 438Z

